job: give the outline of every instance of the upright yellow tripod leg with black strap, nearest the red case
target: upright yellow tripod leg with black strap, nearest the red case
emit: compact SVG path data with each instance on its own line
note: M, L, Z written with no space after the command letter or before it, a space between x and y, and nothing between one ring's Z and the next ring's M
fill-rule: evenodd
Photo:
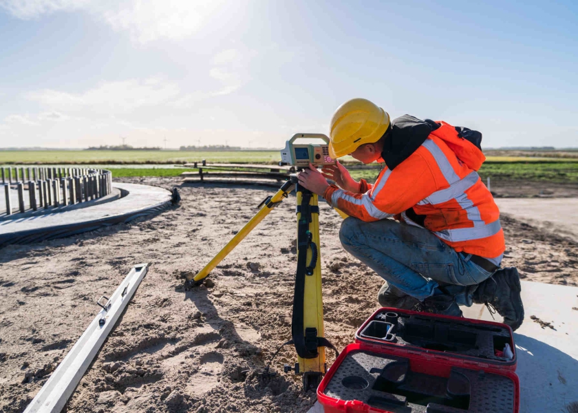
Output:
M303 194L297 191L297 205L301 205ZM310 202L311 207L318 207L318 197L312 193ZM301 220L301 213L297 213L297 221ZM315 264L312 275L305 277L305 292L303 295L303 329L307 331L308 328L315 328L317 330L317 337L324 337L323 330L323 298L321 293L321 248L319 242L319 213L311 214L311 222L309 224L309 232L312 235L312 242L317 245L317 263ZM311 262L312 249L307 250L307 260ZM299 255L297 256L299 260ZM303 387L308 389L310 387L317 388L321 376L325 374L325 347L318 348L319 353L317 357L312 359L298 358L299 373L303 373Z

